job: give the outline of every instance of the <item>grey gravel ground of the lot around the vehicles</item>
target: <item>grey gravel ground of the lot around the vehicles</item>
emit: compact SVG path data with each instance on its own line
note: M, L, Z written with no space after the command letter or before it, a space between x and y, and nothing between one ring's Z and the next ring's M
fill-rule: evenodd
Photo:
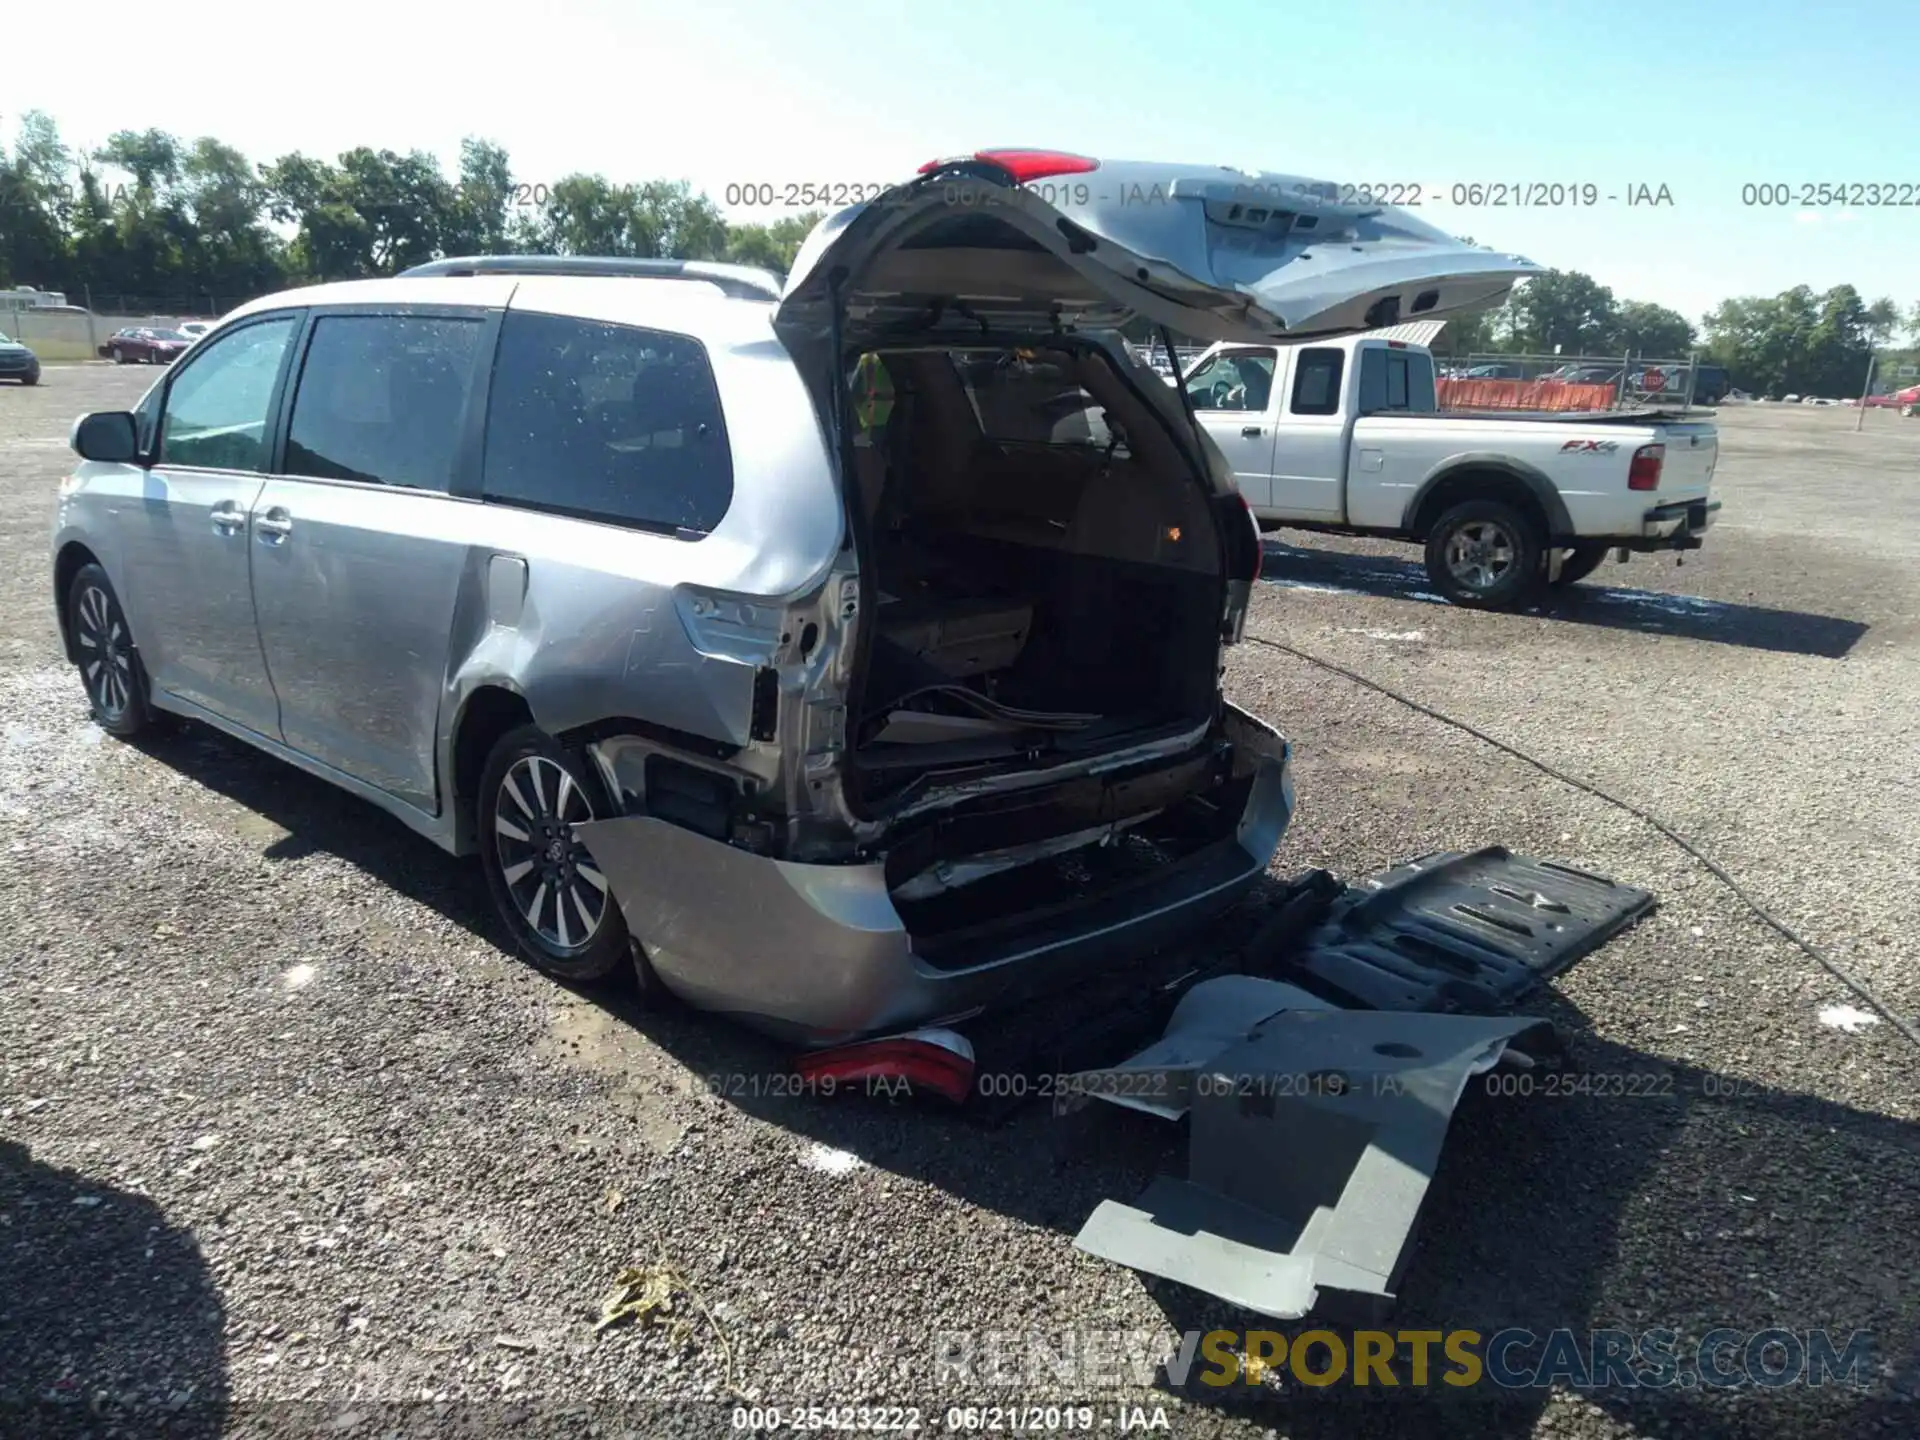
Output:
M937 1377L941 1332L1250 1323L1071 1248L1175 1131L780 1094L753 1037L518 966L478 872L357 801L198 728L106 739L46 536L69 420L150 378L0 390L0 1396L722 1432L732 1371L937 1428L1077 1394ZM1914 1016L1920 422L1853 419L1722 411L1724 518L1682 568L1492 616L1425 599L1407 547L1283 534L1250 632L1649 806ZM1229 689L1298 747L1279 876L1498 841L1661 897L1542 1012L1590 1071L1667 1081L1463 1104L1398 1325L1872 1331L1876 1388L1221 1402L1146 1363L1112 1396L1177 1434L1920 1434L1920 1056L1830 1023L1857 996L1638 820L1258 643ZM660 1258L689 1329L595 1334Z

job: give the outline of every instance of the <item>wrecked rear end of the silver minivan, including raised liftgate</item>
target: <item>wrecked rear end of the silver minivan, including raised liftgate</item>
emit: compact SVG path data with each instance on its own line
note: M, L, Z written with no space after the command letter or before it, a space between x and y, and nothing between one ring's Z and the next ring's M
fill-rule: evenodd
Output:
M828 1044L1031 998L1231 904L1292 812L1284 739L1221 695L1258 532L1119 330L1348 332L1530 269L1288 177L1037 152L826 221L774 330L843 551L778 624L682 614L780 636L732 760L753 814L695 835L662 791L578 831L651 970Z

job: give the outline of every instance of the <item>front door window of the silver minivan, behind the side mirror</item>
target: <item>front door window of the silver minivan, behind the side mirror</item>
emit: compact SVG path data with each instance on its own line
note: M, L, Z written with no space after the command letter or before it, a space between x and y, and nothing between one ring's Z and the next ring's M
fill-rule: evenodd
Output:
M298 324L296 315L246 324L184 361L159 417L161 465L267 468L267 409Z

